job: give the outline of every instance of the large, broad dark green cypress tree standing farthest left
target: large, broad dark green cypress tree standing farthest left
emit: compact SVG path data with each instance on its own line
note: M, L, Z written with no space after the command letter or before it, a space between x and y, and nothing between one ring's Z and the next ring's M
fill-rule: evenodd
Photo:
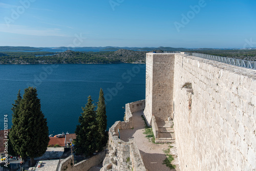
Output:
M47 120L41 111L36 88L25 89L23 99L14 106L13 116L15 119L10 134L13 149L23 158L29 156L33 165L34 158L46 152L50 140Z

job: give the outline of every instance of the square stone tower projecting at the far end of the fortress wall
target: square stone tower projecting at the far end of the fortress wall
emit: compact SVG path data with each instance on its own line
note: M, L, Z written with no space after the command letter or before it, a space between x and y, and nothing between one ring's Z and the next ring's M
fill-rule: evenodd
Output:
M157 121L173 118L175 54L146 54L146 106L144 116L152 125L152 116Z

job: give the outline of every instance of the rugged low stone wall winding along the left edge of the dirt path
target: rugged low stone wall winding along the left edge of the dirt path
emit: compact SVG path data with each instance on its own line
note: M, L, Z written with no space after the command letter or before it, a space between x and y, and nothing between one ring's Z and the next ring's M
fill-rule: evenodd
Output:
M109 130L109 153L103 161L103 170L146 170L139 149L133 139L124 142L119 139L118 130L132 129L132 113L141 111L145 107L145 100L125 104L125 121L116 121Z

